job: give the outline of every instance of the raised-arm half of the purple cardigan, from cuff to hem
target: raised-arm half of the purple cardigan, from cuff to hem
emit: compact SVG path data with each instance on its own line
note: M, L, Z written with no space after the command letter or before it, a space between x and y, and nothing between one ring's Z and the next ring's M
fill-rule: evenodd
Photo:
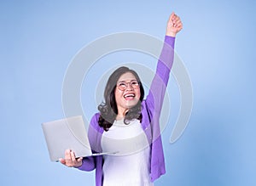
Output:
M150 127L146 127L146 133L147 136L150 137L151 142L150 178L152 182L166 173L165 158L160 136L160 110L162 108L167 82L172 69L174 42L174 37L165 37L165 43L158 60L148 97L145 100L145 108L143 109L147 110L146 115L143 116L148 116L148 124L150 124ZM149 131L147 128L149 128Z

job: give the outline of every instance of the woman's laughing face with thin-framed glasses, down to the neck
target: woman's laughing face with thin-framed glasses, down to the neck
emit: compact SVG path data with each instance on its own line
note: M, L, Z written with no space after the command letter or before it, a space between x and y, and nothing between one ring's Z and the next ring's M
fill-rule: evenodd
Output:
M115 88L118 114L124 115L126 110L138 103L140 97L141 92L136 77L131 72L126 72L120 76Z

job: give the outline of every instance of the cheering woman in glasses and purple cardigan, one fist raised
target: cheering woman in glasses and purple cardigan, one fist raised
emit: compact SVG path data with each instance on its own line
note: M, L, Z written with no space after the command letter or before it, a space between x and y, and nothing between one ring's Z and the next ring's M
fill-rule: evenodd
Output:
M88 136L93 151L117 152L76 158L71 149L61 163L83 171L96 169L96 186L154 185L166 172L160 138L160 110L173 62L175 37L183 24L172 13L166 26L165 45L149 93L134 70L120 67L109 77L105 103L90 121Z

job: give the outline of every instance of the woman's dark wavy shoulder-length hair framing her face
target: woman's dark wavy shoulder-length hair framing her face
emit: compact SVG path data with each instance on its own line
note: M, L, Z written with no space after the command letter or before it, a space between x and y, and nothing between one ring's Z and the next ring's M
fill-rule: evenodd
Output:
M140 85L140 93L141 97L137 104L130 108L125 113L125 124L129 124L129 121L132 119L138 119L142 121L142 114L141 114L141 107L142 107L142 101L144 98L144 88L143 84L137 75L137 72L135 70L131 70L125 66L119 67L117 70L114 70L113 73L109 76L107 85L105 87L104 91L104 99L105 102L98 105L98 110L100 111L100 118L99 118L99 126L103 127L105 131L108 131L110 127L113 125L113 121L116 119L116 116L118 115L118 108L115 101L115 88L117 85L117 82L119 80L119 77L125 74L126 72L131 72L137 79L137 82Z

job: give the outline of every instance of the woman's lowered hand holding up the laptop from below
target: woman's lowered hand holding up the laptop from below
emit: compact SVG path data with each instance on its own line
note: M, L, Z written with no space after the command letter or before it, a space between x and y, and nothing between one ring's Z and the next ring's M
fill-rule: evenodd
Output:
M76 158L74 152L71 149L65 150L65 158L60 158L60 162L69 167L82 166L83 157Z

